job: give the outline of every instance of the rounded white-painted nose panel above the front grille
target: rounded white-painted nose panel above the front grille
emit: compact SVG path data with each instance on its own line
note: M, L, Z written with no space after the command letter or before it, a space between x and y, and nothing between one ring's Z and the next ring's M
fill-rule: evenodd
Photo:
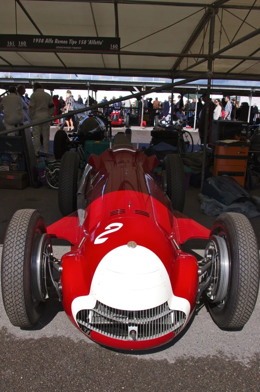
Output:
M116 309L143 310L160 306L172 296L167 271L155 253L137 245L120 246L99 263L90 295Z

